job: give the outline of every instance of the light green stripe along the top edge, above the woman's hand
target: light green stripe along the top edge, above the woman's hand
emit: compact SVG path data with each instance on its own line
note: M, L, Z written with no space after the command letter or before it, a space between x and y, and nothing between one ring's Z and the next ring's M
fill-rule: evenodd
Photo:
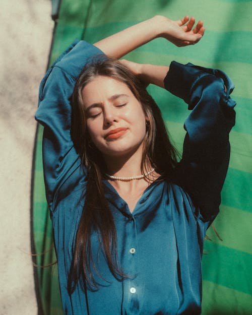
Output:
M218 0L211 2L148 2L148 10L145 0L128 0L127 2L109 0L93 2L92 11L88 20L89 27L96 27L110 22L128 22L136 24L151 18L154 14L163 15L172 20L178 20L185 15L194 16L196 20L202 19L207 30L215 31L247 31L247 23L252 12L251 2L227 3ZM104 14L104 13L108 14ZM141 14L140 14L141 12ZM125 14L127 13L127 14ZM214 17L214 18L213 18ZM238 19L234 18L239 17Z

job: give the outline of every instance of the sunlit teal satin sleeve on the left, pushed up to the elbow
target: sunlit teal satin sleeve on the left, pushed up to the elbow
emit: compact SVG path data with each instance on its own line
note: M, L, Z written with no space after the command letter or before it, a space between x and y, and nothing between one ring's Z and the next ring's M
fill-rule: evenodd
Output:
M101 55L95 46L75 41L47 71L39 88L39 103L35 119L44 126L43 168L46 198L53 210L53 198L62 183L73 184L81 172L80 159L71 135L71 97L76 80L94 55Z

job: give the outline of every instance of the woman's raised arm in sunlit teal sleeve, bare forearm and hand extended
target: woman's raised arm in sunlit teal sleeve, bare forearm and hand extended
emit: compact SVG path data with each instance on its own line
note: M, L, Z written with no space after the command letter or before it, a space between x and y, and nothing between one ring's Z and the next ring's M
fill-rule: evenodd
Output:
M204 28L201 21L193 29L194 24L194 18L171 21L156 16L94 45L76 41L50 67L40 85L39 107L35 117L44 126L43 165L46 196L51 210L53 198L62 183L70 176L73 179L73 174L76 175L75 181L78 176L83 176L76 171L80 161L70 135L70 100L76 80L86 63L92 56L103 52L119 58L160 36L178 46L196 43L204 34Z

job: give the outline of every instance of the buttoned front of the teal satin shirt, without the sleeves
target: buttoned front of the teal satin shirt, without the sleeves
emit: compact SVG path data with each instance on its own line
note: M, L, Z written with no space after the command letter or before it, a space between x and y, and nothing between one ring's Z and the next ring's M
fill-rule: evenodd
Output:
M186 309L189 305L195 305L196 310L201 297L199 244L202 240L199 238L201 235L204 237L201 233L204 226L198 225L187 196L179 191L167 193L162 186L150 187L138 200L133 213L127 203L111 190L106 197L116 227L118 260L129 277L123 281L114 278L102 255L98 237L94 234L92 254L100 275L96 274L95 277L101 287L96 292L88 290L86 299L81 286L78 286L71 296L78 305L75 313L86 314L86 301L91 314L120 313L121 309L129 314L180 314L182 310L180 312L179 308ZM53 218L56 223L55 239L58 239L59 281L63 284L71 266L71 257L69 260L67 257L72 251L72 235L79 220L76 209L70 212L71 206L62 207L60 204L58 214L56 216L55 213ZM64 226L70 220L72 223ZM68 228L71 229L69 233ZM57 234L63 234L64 239L57 237ZM64 285L61 289L64 300ZM68 298L66 292L66 304ZM194 313L198 314L198 310Z

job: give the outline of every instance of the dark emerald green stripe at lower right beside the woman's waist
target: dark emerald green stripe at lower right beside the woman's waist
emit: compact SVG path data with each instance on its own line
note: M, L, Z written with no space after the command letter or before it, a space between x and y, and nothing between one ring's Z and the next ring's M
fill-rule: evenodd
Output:
M203 279L247 294L252 293L252 255L206 241L203 256ZM218 266L216 265L218 263Z

